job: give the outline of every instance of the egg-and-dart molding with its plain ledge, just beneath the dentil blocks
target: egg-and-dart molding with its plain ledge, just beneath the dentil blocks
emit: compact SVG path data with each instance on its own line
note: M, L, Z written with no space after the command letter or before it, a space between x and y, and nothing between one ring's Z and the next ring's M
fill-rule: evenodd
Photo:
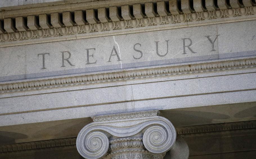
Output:
M198 1L199 2L199 1ZM237 1L238 2L238 1ZM201 11L196 13L182 13L177 15L160 15L158 17L145 17L132 20L119 20L110 22L98 22L96 24L83 24L75 26L63 26L55 28L40 28L16 32L2 31L0 25L0 47L47 43L52 41L64 41L102 37L106 35L129 34L145 31L156 31L159 28L175 29L189 26L201 26L222 24L228 22L240 22L256 19L255 1L249 6ZM194 2L195 3L195 2ZM192 4L193 5L193 4ZM200 4L198 4L200 5ZM178 8L178 7L176 7ZM94 8L97 9L97 8ZM61 12L61 11L58 11ZM1 15L1 12L0 12ZM35 15L34 15L35 16ZM105 15L104 15L105 16ZM29 17L29 16L28 16ZM6 18L9 19L9 18ZM1 22L0 22L1 23ZM34 26L34 25L33 25ZM124 31L125 30L125 31ZM18 41L18 42L17 42Z

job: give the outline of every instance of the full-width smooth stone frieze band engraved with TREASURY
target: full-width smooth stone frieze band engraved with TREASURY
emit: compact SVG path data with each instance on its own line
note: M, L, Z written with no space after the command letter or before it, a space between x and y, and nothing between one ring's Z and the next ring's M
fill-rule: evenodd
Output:
M0 82L253 58L256 32L246 31L253 25L256 21L4 47ZM239 36L230 27L237 27Z

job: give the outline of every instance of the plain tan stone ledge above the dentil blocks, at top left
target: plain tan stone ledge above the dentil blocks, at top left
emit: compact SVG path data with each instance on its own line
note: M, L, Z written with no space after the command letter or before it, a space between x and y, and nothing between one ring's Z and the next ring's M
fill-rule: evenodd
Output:
M159 0L62 0L46 3L34 3L18 6L0 7L0 20L28 15L51 14L64 11L96 9L110 6L133 5L137 3L157 2ZM29 3L29 2L27 2Z

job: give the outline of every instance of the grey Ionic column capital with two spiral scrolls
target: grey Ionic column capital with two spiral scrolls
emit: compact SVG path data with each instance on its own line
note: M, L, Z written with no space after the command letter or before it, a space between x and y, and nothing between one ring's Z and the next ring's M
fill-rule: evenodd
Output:
M176 141L172 123L158 110L94 116L77 136L87 159L163 159Z

